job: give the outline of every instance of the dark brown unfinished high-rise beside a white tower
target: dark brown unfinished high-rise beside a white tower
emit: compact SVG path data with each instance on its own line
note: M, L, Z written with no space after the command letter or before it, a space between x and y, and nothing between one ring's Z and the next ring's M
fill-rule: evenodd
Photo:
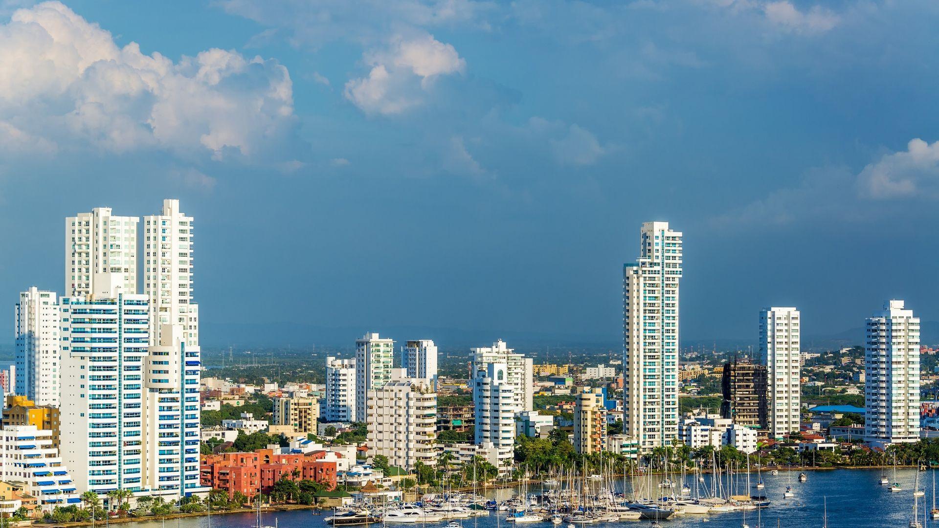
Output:
M720 404L720 417L730 418L734 424L765 429L767 419L766 367L756 365L750 358L733 358L724 364L721 379L724 400Z

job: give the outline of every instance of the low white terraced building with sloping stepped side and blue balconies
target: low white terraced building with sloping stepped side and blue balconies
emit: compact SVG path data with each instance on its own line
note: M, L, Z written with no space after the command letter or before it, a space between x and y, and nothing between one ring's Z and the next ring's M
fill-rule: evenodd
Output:
M42 511L82 502L69 469L53 445L53 431L36 426L3 427L0 454L0 480L22 482L23 490L36 497Z

